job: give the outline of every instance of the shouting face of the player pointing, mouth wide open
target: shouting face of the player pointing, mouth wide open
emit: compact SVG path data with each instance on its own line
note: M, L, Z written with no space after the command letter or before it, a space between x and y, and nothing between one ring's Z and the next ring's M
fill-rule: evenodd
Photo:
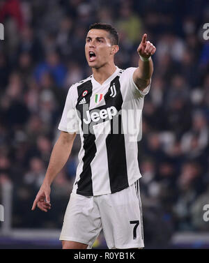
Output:
M86 36L85 54L88 66L101 68L113 59L114 46L111 45L109 32L103 29L91 29Z

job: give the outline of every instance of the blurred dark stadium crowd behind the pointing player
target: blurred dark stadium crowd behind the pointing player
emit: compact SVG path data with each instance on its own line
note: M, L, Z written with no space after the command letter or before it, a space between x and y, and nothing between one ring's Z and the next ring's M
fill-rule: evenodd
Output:
M61 248L79 138L52 184L52 210L31 211L71 84L91 75L93 22L118 30L116 65L137 66L143 33L157 47L143 113L139 164L146 248L209 248L208 1L0 1L0 248ZM107 248L100 234L95 248Z

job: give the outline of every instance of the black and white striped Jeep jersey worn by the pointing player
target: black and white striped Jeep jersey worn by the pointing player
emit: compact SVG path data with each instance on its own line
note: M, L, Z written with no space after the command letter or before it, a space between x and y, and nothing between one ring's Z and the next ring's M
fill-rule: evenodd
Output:
M81 137L73 193L115 193L141 177L137 142L150 84L139 91L132 78L135 69L116 68L102 84L91 75L70 87L59 130Z

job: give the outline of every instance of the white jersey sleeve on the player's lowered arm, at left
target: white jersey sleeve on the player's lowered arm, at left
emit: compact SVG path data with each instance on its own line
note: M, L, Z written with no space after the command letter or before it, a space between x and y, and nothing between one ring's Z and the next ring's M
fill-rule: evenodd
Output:
M65 100L65 107L59 123L58 129L68 133L78 133L79 121L77 119L76 108L73 105L73 89L72 86L68 91L67 98Z

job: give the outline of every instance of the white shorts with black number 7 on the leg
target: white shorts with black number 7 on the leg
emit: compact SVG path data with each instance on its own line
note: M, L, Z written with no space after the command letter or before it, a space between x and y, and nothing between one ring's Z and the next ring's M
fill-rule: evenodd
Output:
M93 246L103 230L108 248L143 248L139 180L117 193L84 196L71 193L60 240Z

